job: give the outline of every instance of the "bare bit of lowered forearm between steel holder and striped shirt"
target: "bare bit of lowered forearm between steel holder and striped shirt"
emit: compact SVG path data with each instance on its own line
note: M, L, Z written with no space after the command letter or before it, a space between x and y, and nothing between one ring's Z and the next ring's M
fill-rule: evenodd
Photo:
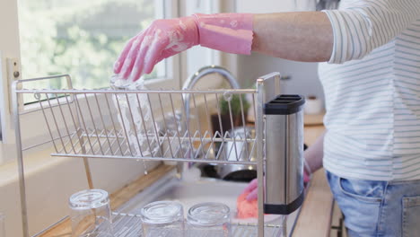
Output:
M315 143L308 147L304 153L305 161L308 164L311 171L318 171L322 167L322 158L324 157L324 136L323 133L317 138Z

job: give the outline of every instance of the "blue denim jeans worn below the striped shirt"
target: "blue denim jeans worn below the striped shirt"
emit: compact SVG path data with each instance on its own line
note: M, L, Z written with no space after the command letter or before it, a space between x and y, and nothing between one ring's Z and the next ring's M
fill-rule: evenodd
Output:
M349 236L420 236L420 180L327 179Z

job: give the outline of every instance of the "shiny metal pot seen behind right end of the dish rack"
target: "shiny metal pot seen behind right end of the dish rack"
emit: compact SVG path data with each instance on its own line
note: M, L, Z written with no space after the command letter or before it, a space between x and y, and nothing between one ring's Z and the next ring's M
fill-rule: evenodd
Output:
M257 159L257 144L255 127L235 127L229 131L230 139L223 142L219 153L227 161L255 162ZM222 157L223 157L222 156ZM223 180L249 181L257 178L256 165L218 164L217 174Z

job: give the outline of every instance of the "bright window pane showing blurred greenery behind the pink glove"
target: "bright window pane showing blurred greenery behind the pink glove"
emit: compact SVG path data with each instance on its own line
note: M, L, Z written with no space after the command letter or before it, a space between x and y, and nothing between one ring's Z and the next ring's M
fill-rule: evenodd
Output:
M109 86L112 66L130 37L153 19L173 17L165 0L18 0L22 76L69 74L74 88ZM169 78L171 60L146 79ZM32 88L66 88L60 80ZM28 101L25 99L25 101Z

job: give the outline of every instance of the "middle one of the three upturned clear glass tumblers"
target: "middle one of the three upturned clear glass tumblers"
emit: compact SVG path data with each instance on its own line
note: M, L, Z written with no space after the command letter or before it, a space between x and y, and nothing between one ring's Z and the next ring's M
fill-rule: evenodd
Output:
M143 237L184 237L184 211L172 201L153 202L141 210Z

